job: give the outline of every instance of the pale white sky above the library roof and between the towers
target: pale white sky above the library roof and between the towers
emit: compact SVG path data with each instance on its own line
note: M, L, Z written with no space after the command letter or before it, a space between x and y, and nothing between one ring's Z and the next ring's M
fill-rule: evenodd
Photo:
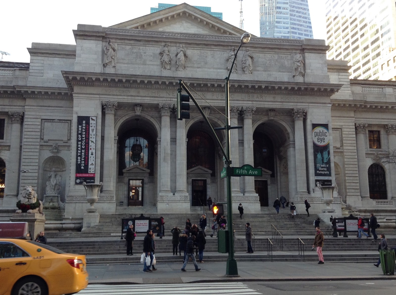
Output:
M26 48L32 42L76 44L73 31L78 24L112 26L150 13L160 3L209 6L222 12L223 21L239 27L238 0L4 0L0 4L0 51L3 61L29 62ZM308 0L314 38L325 39L324 0ZM244 30L260 36L259 0L243 0ZM1 58L1 55L0 55Z

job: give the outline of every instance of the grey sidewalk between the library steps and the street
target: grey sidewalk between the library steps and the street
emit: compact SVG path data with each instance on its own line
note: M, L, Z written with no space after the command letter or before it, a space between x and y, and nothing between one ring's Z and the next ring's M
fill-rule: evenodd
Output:
M381 267L372 263L317 262L239 262L240 277L225 276L226 262L198 263L202 269L194 270L190 261L187 272L181 263L159 263L158 270L143 273L142 264L88 265L90 284L180 284L188 282L244 282L244 281L308 281L308 280L394 280L385 276Z

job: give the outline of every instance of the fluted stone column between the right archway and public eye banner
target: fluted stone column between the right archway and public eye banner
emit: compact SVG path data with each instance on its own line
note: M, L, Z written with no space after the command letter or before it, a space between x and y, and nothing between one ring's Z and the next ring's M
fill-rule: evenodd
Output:
M307 168L305 163L305 140L304 140L304 109L293 109L291 115L294 118L295 157L297 194L307 194Z

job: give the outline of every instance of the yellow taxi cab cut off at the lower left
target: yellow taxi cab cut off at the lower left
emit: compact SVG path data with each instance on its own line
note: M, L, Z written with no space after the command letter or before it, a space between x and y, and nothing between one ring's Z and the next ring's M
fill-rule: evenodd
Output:
M74 294L88 286L85 255L0 238L0 295Z

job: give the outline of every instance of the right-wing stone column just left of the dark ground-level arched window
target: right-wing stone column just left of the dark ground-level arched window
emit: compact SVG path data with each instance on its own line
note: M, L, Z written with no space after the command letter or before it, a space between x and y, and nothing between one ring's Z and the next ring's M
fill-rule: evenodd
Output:
M369 199L369 176L366 164L366 127L365 123L355 124L356 128L356 151L358 156L359 188L360 197Z

